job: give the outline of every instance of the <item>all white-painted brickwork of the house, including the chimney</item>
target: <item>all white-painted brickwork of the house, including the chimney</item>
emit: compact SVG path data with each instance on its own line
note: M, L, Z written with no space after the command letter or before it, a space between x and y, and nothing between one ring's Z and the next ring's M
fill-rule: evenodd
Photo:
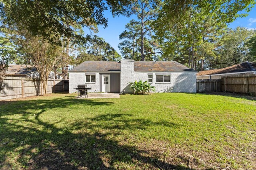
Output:
M121 60L120 73L120 91L121 93L133 93L129 82L135 80L148 80L148 73L134 72L134 60ZM84 72L70 72L69 73L69 92L74 93L78 84L87 84L92 90L88 92L100 92L100 74L96 73L95 83L85 82ZM156 87L156 92L188 92L196 93L196 72L172 72L171 82L158 83L156 82L156 74L153 74L152 86ZM171 90L172 88L172 90Z

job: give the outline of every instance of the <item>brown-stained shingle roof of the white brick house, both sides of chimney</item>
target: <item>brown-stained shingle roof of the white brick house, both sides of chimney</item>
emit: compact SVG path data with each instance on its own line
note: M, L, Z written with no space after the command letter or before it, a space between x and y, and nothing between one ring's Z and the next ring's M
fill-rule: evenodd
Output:
M110 72L120 71L121 63L116 61L85 61L70 72ZM135 61L135 72L184 72L195 71L175 61Z

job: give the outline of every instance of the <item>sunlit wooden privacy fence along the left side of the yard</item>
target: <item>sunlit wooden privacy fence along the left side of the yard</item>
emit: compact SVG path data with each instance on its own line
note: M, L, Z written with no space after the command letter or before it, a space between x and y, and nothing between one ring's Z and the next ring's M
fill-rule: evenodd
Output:
M47 93L68 91L68 80L48 80ZM44 94L38 79L5 79L0 92L0 100L38 96Z

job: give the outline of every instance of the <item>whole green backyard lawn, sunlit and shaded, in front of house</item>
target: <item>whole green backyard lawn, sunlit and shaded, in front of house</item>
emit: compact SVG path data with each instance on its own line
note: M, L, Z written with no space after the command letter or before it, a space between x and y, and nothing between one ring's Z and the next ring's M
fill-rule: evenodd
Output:
M0 169L256 169L256 101L74 96L0 102Z

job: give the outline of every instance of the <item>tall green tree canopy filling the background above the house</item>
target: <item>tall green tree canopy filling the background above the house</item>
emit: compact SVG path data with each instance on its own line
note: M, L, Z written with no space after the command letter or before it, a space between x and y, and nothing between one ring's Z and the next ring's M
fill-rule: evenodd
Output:
M85 60L119 61L121 56L103 38L104 11L135 15L120 34L122 57L136 61L178 61L195 70L255 61L255 31L227 29L246 16L254 0L2 0L0 55L14 63L30 63L19 42L20 32L60 47L53 69L68 76L68 67ZM84 27L89 29L84 34ZM223 64L224 63L224 64Z

